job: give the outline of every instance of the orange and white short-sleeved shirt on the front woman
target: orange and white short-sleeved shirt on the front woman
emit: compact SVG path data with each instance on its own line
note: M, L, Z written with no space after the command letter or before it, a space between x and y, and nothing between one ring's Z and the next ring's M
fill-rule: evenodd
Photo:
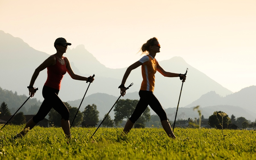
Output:
M139 62L143 63L141 66L141 73L143 81L141 83L141 90L154 91L155 73L158 62L150 55L143 56Z

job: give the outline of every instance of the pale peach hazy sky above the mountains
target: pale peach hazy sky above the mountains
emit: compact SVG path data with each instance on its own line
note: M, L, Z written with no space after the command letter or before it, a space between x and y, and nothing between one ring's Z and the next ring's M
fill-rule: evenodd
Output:
M156 37L158 61L180 56L232 92L256 85L255 0L0 0L0 22L48 54L58 37L71 49L83 44L109 68L138 61L140 47Z

